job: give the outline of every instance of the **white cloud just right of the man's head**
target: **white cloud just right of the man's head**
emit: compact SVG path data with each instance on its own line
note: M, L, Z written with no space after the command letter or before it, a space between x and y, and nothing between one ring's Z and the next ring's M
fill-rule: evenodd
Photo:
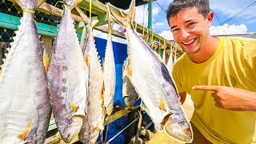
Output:
M221 34L245 34L247 32L247 26L241 25L228 25L223 26L210 26L210 34L221 35Z

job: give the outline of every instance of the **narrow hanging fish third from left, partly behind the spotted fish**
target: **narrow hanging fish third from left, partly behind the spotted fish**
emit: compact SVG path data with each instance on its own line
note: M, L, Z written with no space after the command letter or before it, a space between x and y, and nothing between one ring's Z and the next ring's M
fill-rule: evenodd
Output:
M85 15L82 10L77 8L80 15ZM83 18L83 17L82 17ZM86 62L86 69L89 70L88 95L87 95L87 115L82 129L78 135L83 143L95 143L100 130L104 130L104 85L102 82L102 66L99 61L98 52L94 44L93 26L86 23L83 30L81 44L82 53ZM89 25L87 25L89 24Z

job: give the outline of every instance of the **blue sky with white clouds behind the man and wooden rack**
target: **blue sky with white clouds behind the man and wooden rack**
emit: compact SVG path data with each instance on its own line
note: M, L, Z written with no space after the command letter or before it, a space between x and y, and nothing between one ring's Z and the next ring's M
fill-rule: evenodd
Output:
M157 0L153 2L152 29L163 38L173 40L170 26L166 20L166 10L173 0ZM136 6L135 22L147 26L148 5ZM256 0L210 0L210 10L214 12L214 20L210 26L210 34L244 34L256 32ZM124 10L126 13L128 10ZM229 20L230 19L230 20ZM114 30L120 25L115 24ZM96 37L106 38L106 34L94 32ZM125 39L113 38L115 42L126 43Z

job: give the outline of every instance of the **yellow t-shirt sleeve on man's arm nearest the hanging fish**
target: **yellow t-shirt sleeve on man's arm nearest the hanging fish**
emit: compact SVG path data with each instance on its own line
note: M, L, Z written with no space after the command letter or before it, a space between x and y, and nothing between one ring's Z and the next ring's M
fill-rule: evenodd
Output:
M181 83L181 78L180 78L180 74L181 74L181 70L178 69L178 63L174 64L174 69L173 69L173 79L174 79L174 84L178 90L178 93L182 93L184 92L184 90L182 89L182 83Z

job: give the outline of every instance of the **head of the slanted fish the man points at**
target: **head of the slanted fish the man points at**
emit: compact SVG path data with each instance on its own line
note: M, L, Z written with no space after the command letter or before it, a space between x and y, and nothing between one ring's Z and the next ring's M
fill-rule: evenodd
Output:
M179 142L192 142L193 134L190 123L180 115L172 114L168 118L164 129L166 134Z

